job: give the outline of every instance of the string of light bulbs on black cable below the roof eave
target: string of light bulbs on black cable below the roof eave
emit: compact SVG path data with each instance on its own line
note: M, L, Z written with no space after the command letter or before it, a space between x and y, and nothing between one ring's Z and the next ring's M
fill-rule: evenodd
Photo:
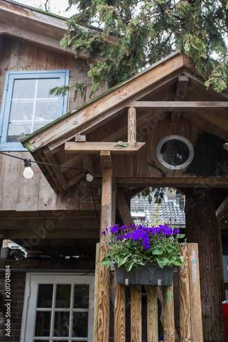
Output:
M24 166L25 166L25 170L23 172L23 176L26 179L31 179L32 176L34 176L34 172L31 169L31 163L36 163L36 164L42 164L42 165L48 165L48 166L55 166L56 168L66 168L66 169L71 169L71 170L81 170L86 175L86 181L92 182L92 180L93 180L92 174L90 174L90 172L88 172L88 170L86 168L83 168L83 169L81 169L81 168L71 168L71 167L68 167L68 166L55 165L55 164L50 164L50 163L43 163L42 161L34 161L34 160L31 160L31 159L16 157L15 155L9 155L8 153L3 153L3 152L0 152L0 153L1 153L1 155L8 155L9 157L23 160L24 161Z

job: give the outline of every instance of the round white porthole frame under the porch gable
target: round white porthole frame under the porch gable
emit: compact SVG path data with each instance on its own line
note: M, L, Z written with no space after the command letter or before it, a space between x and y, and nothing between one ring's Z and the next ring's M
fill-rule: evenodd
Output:
M166 161L164 161L164 159L162 159L162 146L164 145L165 142L168 142L168 140L181 140L181 142L184 142L189 149L189 157L188 159L181 165L170 165L168 163L166 163ZM190 141L188 139L186 139L186 137L182 137L181 135L168 135L167 137L164 137L162 140L160 140L160 142L157 144L157 148L156 148L156 155L157 155L157 160L165 167L168 168L170 170L181 170L184 168L187 168L187 166L190 165L190 163L192 162L192 159L194 157L194 148L192 146L192 144L190 143Z

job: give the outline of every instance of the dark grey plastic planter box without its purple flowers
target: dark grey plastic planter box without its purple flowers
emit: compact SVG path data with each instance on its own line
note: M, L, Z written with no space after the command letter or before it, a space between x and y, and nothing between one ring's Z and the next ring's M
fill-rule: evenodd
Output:
M124 267L118 267L117 263L114 266L117 284L172 286L173 283L175 266L161 268L157 263L148 263L141 265L138 270L132 267L129 272Z

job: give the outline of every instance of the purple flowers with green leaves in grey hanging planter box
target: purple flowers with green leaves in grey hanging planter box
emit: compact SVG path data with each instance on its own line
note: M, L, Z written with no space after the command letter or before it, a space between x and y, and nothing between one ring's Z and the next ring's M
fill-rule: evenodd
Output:
M118 284L172 285L174 267L183 264L179 238L185 235L179 234L179 229L166 224L149 227L142 222L121 227L115 224L102 234L107 249L101 263L105 267L116 263Z

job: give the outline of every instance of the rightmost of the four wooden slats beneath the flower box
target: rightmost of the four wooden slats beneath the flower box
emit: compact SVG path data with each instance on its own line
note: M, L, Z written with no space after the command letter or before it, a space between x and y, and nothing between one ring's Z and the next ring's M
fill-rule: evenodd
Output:
M175 342L173 286L163 287L164 341Z

